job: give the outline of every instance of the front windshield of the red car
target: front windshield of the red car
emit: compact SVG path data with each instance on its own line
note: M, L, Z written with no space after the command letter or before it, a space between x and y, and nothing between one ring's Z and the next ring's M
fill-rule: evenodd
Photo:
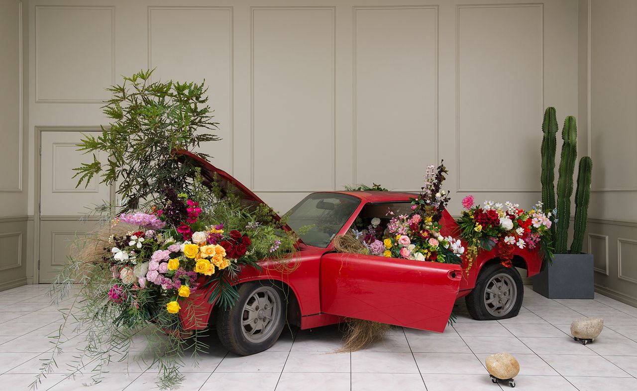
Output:
M338 193L306 196L285 214L287 224L310 246L327 247L361 200ZM306 227L306 228L304 228Z

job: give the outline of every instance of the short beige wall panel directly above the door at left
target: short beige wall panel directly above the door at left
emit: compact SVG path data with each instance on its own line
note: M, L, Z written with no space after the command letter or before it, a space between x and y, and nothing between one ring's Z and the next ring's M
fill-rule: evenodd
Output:
M110 97L104 89L115 81L114 23L114 7L36 6L36 102Z

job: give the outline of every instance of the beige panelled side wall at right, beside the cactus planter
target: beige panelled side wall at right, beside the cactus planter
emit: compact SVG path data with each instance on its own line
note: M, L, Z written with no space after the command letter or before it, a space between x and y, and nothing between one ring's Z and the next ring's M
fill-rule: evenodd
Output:
M582 0L579 10L579 154L593 159L596 289L637 306L637 2Z

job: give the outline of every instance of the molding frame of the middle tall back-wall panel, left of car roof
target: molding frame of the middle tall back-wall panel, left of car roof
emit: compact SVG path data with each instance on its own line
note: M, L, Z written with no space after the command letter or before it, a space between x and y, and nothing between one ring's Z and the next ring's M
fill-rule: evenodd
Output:
M332 190L336 191L336 6L251 6L250 7L250 186L254 193L315 193L326 189L255 189L254 142L254 13L255 11L331 11L332 12Z

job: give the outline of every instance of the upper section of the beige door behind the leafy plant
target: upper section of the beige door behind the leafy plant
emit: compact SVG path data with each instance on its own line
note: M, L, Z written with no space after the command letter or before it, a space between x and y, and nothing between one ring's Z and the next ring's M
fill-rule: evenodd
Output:
M97 132L87 134L99 135ZM82 132L43 131L41 133L41 214L43 216L77 215L89 212L88 208L110 200L110 187L94 177L88 186L75 185L73 168L91 163L92 154L76 151ZM99 152L97 159L106 161L106 154Z

